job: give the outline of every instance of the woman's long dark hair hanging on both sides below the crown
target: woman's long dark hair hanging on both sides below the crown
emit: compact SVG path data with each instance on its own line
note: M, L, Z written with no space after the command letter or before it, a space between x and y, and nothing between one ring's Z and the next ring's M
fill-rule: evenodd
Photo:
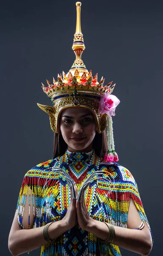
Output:
M105 131L103 131L101 134L96 132L96 135L93 139L93 148L98 157L104 158L104 154L108 151L107 136ZM65 140L62 137L62 133L54 133L53 158L65 154L66 149L67 143L65 143Z

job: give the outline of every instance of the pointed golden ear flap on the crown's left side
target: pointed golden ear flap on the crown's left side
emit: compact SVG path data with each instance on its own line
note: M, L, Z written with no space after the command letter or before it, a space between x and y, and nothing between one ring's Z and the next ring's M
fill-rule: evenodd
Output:
M38 107L41 108L44 112L46 112L49 115L50 123L51 123L51 129L53 132L56 132L56 118L55 118L55 109L51 106L41 105L37 103Z

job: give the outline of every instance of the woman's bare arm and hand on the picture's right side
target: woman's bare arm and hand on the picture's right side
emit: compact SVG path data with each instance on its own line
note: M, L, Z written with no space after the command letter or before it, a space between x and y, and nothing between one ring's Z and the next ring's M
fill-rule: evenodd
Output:
M93 233L100 239L106 240L108 237L107 225L105 225L101 221L96 221L90 218L86 212L87 209L84 206L85 204L83 203L83 201L82 203L78 203L77 205L77 217L79 225L82 225L82 229ZM146 223L142 230L134 230L134 228L137 228L140 225L140 215L135 207L134 202L132 201L132 199L130 199L127 220L128 228L114 226L115 239L113 241L113 244L118 245L119 247L122 247L126 250L139 253L143 256L149 255L150 251L152 250L151 233Z

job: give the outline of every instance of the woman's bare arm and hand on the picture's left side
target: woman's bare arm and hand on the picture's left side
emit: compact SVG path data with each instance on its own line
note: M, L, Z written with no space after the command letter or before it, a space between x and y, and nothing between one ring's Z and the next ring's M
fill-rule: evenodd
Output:
M32 191L31 191L32 192ZM34 200L35 202L35 200ZM24 229L21 229L18 219L17 211L14 216L14 220L11 226L8 248L13 256L18 256L22 253L37 249L47 242L43 237L43 228L32 228L34 224L33 206L30 207L30 229L28 228L28 209L29 209L29 188L25 203L25 210L23 215L22 224ZM36 211L36 206L34 204ZM70 207L67 210L65 217L61 221L56 221L48 228L48 235L51 240L56 239L62 233L72 228L76 224L76 200L73 199L70 203Z

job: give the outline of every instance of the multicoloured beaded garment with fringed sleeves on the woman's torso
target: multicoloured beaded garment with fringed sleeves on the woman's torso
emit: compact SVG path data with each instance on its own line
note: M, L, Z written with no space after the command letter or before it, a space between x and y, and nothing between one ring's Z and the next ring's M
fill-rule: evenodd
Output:
M29 191L32 190L29 195L29 205L33 204L34 209L35 195L37 209L36 215L34 213L33 227L59 221L65 216L70 204L70 190L65 177L61 173L54 172L54 167L66 171L76 182L78 191L91 173L97 170L104 172L101 179L93 180L85 192L85 204L91 218L126 228L131 197L142 222L146 222L149 226L137 184L126 168L118 163L104 162L94 150L89 153L72 153L67 150L62 157L40 163L26 173L17 203L18 221L22 229L28 186ZM42 246L40 256L56 255L119 256L121 253L118 246L101 244L96 236L82 230L76 224L54 243Z

